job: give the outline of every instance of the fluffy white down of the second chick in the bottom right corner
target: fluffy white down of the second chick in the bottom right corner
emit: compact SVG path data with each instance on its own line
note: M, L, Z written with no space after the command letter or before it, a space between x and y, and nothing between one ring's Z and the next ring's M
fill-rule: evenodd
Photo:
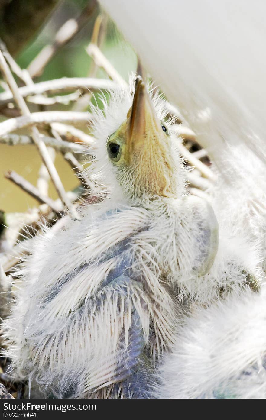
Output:
M161 366L159 398L266 397L266 287L195 308Z

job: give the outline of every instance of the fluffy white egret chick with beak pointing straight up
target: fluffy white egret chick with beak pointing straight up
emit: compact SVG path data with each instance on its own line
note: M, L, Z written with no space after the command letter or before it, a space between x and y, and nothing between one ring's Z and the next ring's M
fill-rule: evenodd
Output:
M111 92L90 168L103 201L32 240L6 336L37 396L148 398L182 299L209 302L255 270L234 243L218 247L211 205L185 192L165 115L140 77Z

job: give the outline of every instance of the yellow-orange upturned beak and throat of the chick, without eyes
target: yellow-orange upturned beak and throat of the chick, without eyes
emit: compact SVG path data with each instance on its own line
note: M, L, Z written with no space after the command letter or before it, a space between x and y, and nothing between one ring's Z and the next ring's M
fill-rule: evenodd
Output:
M134 165L137 180L155 195L176 195L176 165L171 139L158 119L145 84L137 77L126 121L125 160Z

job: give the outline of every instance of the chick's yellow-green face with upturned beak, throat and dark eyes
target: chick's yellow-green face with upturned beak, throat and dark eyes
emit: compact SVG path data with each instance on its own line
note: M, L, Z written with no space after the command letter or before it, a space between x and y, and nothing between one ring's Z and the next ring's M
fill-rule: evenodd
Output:
M176 196L178 162L169 129L160 121L140 76L126 119L108 136L105 147L111 171L126 196Z

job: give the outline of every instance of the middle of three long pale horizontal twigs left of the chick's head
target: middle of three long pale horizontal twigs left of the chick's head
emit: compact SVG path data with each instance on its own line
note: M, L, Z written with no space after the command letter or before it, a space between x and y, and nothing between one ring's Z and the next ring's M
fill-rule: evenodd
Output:
M29 113L20 117L10 118L0 123L0 136L5 136L14 130L22 129L34 125L50 124L53 122L74 122L81 121L87 123L90 121L90 114L87 112L72 111L45 111ZM34 139L34 136L32 135ZM35 140L34 143L36 144Z

